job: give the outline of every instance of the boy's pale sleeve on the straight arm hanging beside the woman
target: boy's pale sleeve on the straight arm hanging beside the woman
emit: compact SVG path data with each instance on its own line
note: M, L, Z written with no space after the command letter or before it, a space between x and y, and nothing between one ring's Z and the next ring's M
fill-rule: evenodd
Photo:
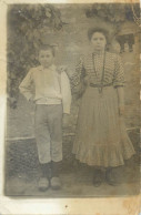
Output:
M61 94L63 113L70 113L71 109L71 89L70 81L66 72L61 72Z

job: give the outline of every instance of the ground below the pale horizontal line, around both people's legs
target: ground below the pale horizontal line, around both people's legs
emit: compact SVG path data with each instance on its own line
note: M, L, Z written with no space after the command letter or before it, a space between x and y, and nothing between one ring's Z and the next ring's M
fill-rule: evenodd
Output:
M7 143L6 186L8 196L20 197L100 197L135 195L140 191L140 151L139 135L130 133L137 154L124 166L117 167L114 174L118 186L110 186L105 182L100 187L92 185L93 170L80 164L70 153L72 137L63 137L63 162L61 165L62 188L47 192L38 190L40 167L34 140Z

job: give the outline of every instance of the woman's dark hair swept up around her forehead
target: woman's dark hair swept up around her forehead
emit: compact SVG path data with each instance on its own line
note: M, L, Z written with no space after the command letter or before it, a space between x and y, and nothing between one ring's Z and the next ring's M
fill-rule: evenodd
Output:
M109 42L109 33L105 29L102 28L92 28L88 30L88 38L91 40L93 33L99 32L102 33L105 37L107 43Z

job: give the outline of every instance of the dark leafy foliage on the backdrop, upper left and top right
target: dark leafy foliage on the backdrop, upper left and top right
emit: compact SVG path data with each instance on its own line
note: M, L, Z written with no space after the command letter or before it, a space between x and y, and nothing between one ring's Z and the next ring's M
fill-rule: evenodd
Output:
M61 10L52 4L13 4L8 10L8 92L10 96L17 96L18 84L27 71L38 64L37 50L42 42L42 35L58 34L66 31L73 17L66 21L61 19ZM66 8L66 7L64 7ZM71 6L70 6L71 8ZM75 6L77 8L77 6ZM139 16L139 4L134 4ZM64 9L66 10L66 9ZM69 8L67 9L69 11ZM88 4L82 7L83 16L88 18L101 18L114 24L119 30L121 23L133 21L133 12L130 4ZM73 13L72 13L73 16ZM73 28L72 28L73 31ZM67 35L68 37L68 35Z

